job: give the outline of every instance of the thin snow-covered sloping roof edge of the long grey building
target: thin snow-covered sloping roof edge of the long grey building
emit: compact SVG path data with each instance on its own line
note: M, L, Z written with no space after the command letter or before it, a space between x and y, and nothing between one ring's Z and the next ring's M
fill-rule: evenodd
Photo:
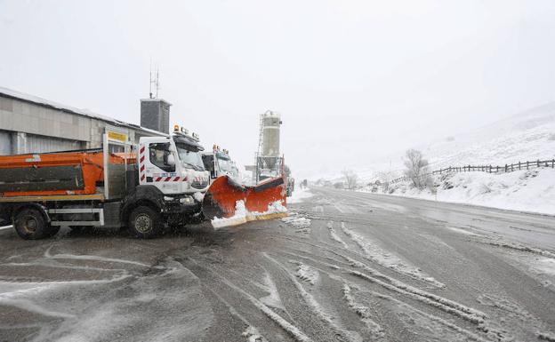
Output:
M161 131L155 131L155 130L151 130L149 128L146 127L141 127L138 124L135 123L125 123L125 121L120 121L117 119L114 119L112 117L109 116L105 116L105 115L100 115L100 114L96 114L93 113L92 111L88 110L88 109L81 109L81 108L77 108L77 107L71 107L68 105L64 105L58 102L54 102L51 101L49 99L43 99L43 98L39 98L38 96L34 96L34 95L30 95L30 94L26 94L24 92L20 92L20 91L14 91L12 89L9 88L4 88L0 86L0 94L5 95L7 97L13 98L13 99L20 99L23 101L28 101L28 102L32 102L38 105L42 105L45 107L52 107L55 109L60 109L69 113L73 113L76 115L83 115L83 116L87 116L87 117L92 117L94 119L98 119L101 121L105 121L107 123L112 123L114 125L117 126L125 126L125 127L129 127L129 128L133 128L135 130L141 130L141 131L147 131L149 133L154 133L156 135L167 135Z

